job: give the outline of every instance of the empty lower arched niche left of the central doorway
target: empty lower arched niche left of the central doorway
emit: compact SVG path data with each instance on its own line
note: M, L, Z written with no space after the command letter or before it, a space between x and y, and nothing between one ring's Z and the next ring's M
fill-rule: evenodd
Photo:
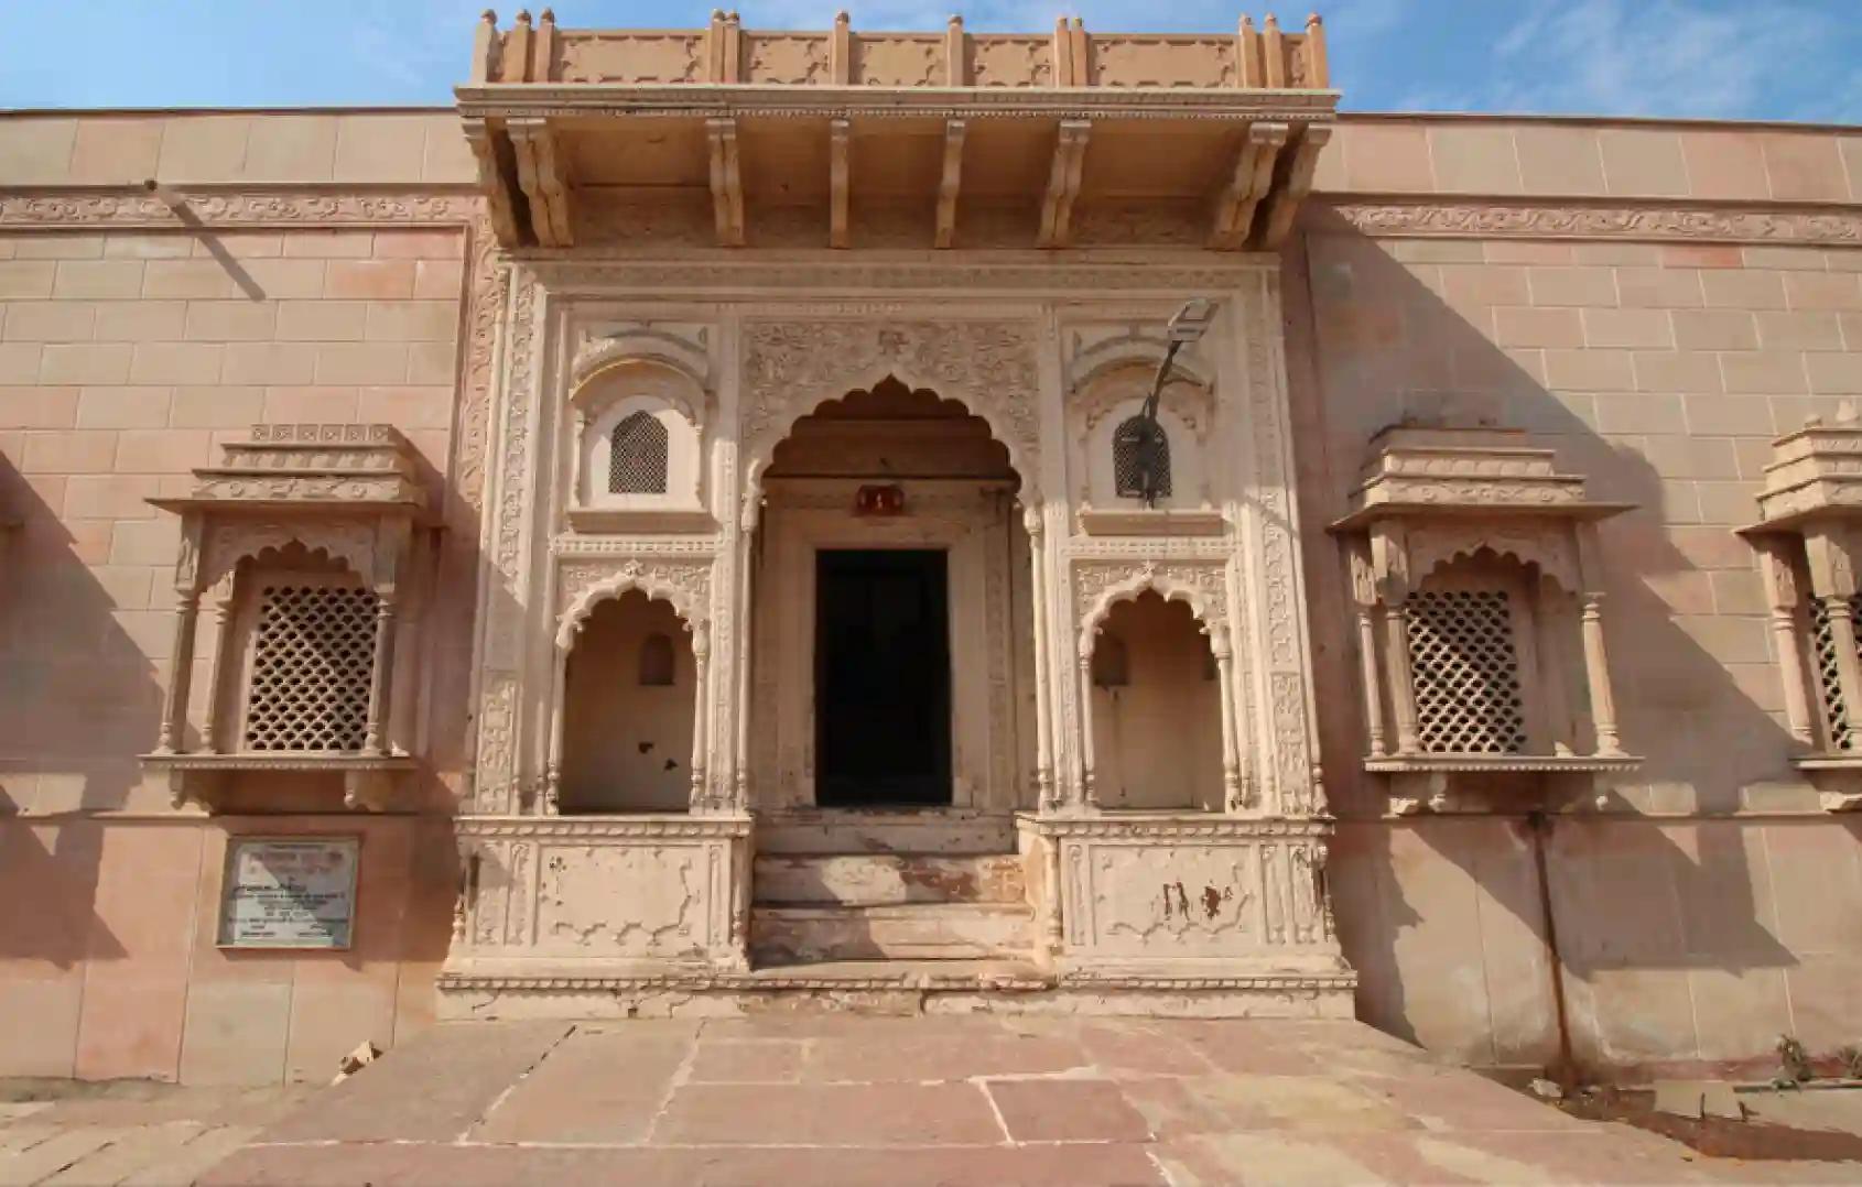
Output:
M695 679L670 603L627 590L598 605L568 657L557 809L687 811Z

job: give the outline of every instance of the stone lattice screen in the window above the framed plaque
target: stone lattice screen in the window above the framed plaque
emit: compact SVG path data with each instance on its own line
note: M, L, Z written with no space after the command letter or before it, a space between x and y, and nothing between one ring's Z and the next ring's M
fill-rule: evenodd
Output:
M374 594L361 586L261 588L246 750L361 750L374 610Z

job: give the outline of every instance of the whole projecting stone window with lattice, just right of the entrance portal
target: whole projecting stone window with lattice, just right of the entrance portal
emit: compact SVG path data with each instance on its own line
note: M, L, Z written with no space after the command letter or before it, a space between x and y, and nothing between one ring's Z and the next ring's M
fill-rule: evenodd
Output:
M1365 768L1611 772L1622 748L1596 523L1551 450L1493 430L1385 430L1331 527L1352 567ZM1434 806L1447 800L1436 780ZM1447 796L1452 798L1452 796Z

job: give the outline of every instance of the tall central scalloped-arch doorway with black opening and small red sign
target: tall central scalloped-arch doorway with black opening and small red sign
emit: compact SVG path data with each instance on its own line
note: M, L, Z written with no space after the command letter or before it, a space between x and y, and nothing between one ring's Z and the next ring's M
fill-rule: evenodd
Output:
M989 424L888 376L797 419L762 484L758 806L1032 804L1028 538Z

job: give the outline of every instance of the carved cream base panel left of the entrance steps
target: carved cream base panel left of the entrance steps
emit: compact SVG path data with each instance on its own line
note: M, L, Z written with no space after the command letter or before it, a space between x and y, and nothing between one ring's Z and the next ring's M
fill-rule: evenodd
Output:
M745 967L749 817L462 817L458 843L443 988L486 969Z

